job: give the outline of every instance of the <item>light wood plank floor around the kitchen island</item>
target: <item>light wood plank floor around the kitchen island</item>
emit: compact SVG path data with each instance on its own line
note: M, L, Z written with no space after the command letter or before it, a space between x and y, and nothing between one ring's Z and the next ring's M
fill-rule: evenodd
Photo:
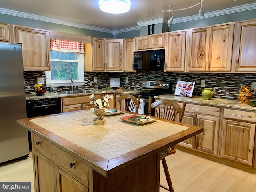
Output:
M182 152L166 158L175 192L256 192L256 175ZM161 164L162 166L162 164ZM161 167L160 181L166 184ZM0 181L33 182L32 153L25 160L0 166ZM160 192L166 190L160 188Z

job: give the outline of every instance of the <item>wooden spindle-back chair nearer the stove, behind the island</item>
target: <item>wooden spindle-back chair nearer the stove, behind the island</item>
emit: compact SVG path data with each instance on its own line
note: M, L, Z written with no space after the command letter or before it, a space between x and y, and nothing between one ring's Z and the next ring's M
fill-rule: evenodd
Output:
M140 106L141 95L138 96L138 99L130 94L123 94L120 97L116 98L116 93L114 93L114 108L118 104L118 109L132 112L135 108L135 113L138 113Z

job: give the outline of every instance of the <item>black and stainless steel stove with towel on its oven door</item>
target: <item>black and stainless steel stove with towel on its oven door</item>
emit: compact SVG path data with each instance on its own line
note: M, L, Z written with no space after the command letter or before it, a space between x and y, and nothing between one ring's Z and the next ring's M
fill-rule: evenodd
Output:
M154 96L172 93L172 83L169 81L142 81L142 91L138 94L132 94L136 98L141 95L139 111L142 114L148 115L149 97L152 97L152 102L155 102ZM154 116L154 111L152 111Z

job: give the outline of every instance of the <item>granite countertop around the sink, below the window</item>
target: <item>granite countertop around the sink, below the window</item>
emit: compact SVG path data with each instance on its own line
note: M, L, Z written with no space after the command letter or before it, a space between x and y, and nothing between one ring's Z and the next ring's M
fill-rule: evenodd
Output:
M38 96L36 93L34 94L27 94L26 100L38 100L38 99L50 99L50 98L59 98L59 97L69 97L69 96L81 96L81 95L91 95L91 94L100 94L102 91L106 91L106 94L108 93L120 93L120 94L135 94L140 93L140 90L134 90L134 89L94 89L90 90L94 91L91 93L76 93L76 94L58 94L58 92L50 93L46 92L43 96Z

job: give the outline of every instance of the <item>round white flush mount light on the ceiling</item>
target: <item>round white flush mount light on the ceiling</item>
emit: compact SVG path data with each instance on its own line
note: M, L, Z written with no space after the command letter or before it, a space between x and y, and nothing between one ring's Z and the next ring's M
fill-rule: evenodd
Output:
M131 2L130 0L100 0L100 10L119 14L128 12L131 9Z

